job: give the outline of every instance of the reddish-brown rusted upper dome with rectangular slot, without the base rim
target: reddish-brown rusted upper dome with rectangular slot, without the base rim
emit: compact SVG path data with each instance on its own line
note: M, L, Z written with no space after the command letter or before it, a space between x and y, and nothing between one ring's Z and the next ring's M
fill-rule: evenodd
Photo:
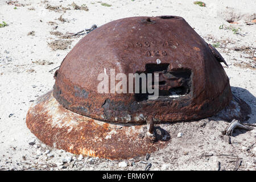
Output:
M148 116L154 122L209 117L232 98L216 55L181 17L115 20L90 32L68 53L55 73L53 96L75 113L116 123L146 123ZM110 76L110 69L126 75L158 72L166 84L160 85L157 100L100 94L97 76L104 70ZM172 97L173 91L180 96Z

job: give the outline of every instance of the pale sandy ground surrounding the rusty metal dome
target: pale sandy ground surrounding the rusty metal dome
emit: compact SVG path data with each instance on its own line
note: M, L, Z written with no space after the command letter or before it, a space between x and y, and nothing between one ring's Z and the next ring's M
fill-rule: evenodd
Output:
M200 7L193 1L102 1L112 5L102 6L101 2L75 0L79 6L86 4L88 11L85 6L82 10L74 9L69 6L72 2L19 0L15 6L0 0L0 23L9 24L0 28L0 169L143 170L146 167L142 162L133 163L137 161L134 159L125 160L120 166L121 161L81 158L56 150L41 143L26 127L31 102L52 89L54 71L49 71L59 66L85 36L65 39L68 35L65 33L129 16L178 15L187 20L225 58L229 68L224 68L232 91L250 105L249 122L256 123L256 24L253 20L256 1L205 0L206 7ZM59 9L54 7L60 5ZM51 32L61 32L64 36ZM70 45L53 50L49 43L60 39L71 41L63 42ZM148 159L151 169L233 170L238 157L242 161L239 170L255 170L256 130L236 130L231 137L232 144L228 144L221 134L228 124L203 119L166 125L171 141L166 148L151 154ZM179 132L183 137L177 138ZM34 145L30 145L31 140Z

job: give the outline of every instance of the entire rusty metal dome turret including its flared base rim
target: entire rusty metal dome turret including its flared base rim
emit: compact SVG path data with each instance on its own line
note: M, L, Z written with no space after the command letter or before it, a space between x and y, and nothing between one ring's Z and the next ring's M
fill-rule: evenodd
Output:
M90 32L68 53L55 72L53 90L28 110L27 127L42 142L73 154L108 159L146 155L170 140L164 122L218 111L224 119L247 117L250 107L232 97L220 62L225 63L220 53L181 17L115 20ZM110 69L125 75L158 73L159 97L98 93L97 77L109 75Z

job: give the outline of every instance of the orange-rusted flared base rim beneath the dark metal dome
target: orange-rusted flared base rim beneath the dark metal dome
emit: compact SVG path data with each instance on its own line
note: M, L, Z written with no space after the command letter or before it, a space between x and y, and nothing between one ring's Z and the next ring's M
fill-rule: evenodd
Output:
M170 139L159 126L155 126L152 140L146 136L146 125L114 125L73 113L56 101L52 91L31 106L26 122L28 129L48 146L108 159L146 155L166 146Z

